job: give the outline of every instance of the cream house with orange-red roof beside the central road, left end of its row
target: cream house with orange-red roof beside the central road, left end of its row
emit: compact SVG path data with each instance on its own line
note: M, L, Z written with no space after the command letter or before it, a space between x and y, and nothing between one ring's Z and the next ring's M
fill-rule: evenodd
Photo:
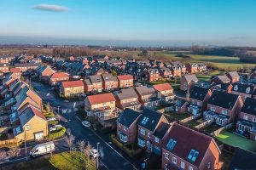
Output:
M103 127L112 126L108 120L118 117L112 93L87 96L84 99L84 111L87 116L95 117Z

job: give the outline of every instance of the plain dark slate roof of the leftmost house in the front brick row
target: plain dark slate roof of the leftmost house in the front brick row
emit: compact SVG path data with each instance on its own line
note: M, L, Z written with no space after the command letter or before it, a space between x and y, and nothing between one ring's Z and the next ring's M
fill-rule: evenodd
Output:
M139 116L141 116L139 112L126 108L125 111L120 114L117 122L125 127L131 127L131 124L135 122Z

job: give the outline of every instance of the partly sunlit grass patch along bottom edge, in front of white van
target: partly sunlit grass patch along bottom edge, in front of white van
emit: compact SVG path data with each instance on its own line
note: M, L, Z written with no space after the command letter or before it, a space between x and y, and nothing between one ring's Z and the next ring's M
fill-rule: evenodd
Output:
M55 170L55 169L70 169L70 170L79 170L84 168L84 161L87 160L85 156L80 156L80 152L62 152L60 154L54 154L52 157L40 157L38 159L21 162L18 164L12 164L6 167L3 167L3 170ZM89 170L95 169L95 166L92 162L89 164Z

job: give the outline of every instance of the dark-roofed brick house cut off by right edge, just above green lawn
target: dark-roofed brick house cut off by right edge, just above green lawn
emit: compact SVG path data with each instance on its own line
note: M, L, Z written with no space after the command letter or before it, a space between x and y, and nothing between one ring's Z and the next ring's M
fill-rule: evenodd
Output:
M241 107L236 131L256 140L256 99L247 98Z

